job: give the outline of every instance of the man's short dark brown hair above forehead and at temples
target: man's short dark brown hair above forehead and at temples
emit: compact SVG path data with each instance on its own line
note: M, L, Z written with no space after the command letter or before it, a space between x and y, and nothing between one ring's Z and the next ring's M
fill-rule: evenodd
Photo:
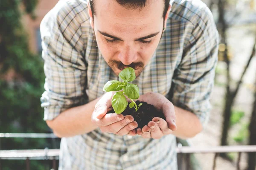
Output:
M145 7L147 0L116 0L116 2L127 9L140 8L141 10L143 7ZM163 18L166 16L170 0L164 0L164 3ZM94 0L90 0L90 6L93 14L95 15Z

